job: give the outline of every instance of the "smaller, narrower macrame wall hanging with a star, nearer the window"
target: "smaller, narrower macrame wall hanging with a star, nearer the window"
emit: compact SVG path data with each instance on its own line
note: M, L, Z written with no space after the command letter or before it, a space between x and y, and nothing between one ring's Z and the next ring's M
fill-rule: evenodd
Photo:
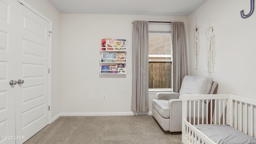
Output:
M198 57L199 57L199 29L200 26L197 26L197 19L196 19L196 28L194 28L194 51L195 51L195 57L196 57L196 70L197 70L197 63L198 63Z

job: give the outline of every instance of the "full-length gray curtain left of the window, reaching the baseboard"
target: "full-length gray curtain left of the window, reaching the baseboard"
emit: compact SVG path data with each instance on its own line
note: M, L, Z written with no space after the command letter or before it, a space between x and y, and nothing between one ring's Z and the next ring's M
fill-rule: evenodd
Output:
M132 22L133 112L148 112L148 22Z

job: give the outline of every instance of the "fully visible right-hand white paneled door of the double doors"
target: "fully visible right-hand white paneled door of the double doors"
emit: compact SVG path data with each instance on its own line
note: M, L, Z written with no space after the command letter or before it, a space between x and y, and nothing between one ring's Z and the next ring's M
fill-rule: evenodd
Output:
M21 144L49 124L49 22L18 4L16 135Z

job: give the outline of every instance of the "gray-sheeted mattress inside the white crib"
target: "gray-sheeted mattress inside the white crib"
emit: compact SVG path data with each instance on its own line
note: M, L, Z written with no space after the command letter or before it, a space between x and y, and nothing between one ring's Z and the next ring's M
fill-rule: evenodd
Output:
M216 144L256 144L256 138L248 136L228 125L194 125Z

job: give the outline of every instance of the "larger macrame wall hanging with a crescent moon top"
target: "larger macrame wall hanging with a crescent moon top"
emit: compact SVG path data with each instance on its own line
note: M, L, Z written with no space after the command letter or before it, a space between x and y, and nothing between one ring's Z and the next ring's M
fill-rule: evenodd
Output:
M215 63L215 44L214 44L214 34L213 34L213 26L210 26L209 20L209 28L206 30L206 41L207 41L207 72L210 77L214 75L214 63Z

